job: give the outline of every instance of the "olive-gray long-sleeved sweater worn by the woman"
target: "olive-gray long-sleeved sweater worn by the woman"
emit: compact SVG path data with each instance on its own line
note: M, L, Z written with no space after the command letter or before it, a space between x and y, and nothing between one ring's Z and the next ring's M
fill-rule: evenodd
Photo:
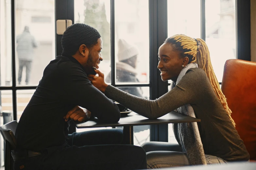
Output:
M106 88L105 95L149 119L157 119L190 104L196 118L201 119L198 129L205 154L227 161L249 160L242 139L200 68L189 69L171 91L156 100L136 97L111 85Z

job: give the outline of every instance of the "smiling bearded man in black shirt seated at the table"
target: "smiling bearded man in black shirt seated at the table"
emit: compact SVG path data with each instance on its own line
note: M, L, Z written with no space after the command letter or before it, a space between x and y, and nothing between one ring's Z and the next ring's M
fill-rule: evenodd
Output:
M70 119L83 121L92 114L104 122L118 122L120 111L87 78L88 74L95 75L93 67L99 68L103 60L98 31L86 24L73 24L62 35L61 45L62 55L46 66L18 123L18 149L12 155L15 160L15 155L28 158L17 156L15 168L146 168L141 147L104 145L121 143L118 129L67 135Z

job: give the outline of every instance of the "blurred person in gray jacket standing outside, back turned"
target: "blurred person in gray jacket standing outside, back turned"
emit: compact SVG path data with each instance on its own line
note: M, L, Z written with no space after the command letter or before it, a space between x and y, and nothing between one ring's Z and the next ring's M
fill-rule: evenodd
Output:
M25 26L21 35L17 36L17 53L19 58L18 83L21 84L22 70L26 67L26 85L29 83L31 64L33 60L33 50L37 48L37 43L33 35L29 32L29 27Z

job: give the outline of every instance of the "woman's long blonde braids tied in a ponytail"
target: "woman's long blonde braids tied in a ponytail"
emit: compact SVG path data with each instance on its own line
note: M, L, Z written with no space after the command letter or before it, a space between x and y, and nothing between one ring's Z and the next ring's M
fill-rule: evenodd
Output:
M205 41L200 38L194 39L186 35L178 34L166 39L165 42L173 43L174 45L176 45L177 50L180 50L180 47L182 47L183 54L181 54L181 56L188 56L189 63L196 63L199 68L205 71L207 77L212 84L215 94L217 95L222 106L228 113L230 120L235 126L235 122L231 118L232 111L227 104L227 100L220 89L219 82L213 71L213 66L210 59L210 52ZM177 45L180 45L180 47L177 47Z

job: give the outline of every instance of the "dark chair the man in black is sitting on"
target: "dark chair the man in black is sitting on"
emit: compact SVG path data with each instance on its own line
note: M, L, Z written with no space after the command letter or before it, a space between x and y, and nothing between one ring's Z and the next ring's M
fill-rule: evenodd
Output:
M17 141L14 136L17 125L18 122L14 120L0 127L0 132L5 141L5 170L13 169L11 150L15 149L17 146Z

